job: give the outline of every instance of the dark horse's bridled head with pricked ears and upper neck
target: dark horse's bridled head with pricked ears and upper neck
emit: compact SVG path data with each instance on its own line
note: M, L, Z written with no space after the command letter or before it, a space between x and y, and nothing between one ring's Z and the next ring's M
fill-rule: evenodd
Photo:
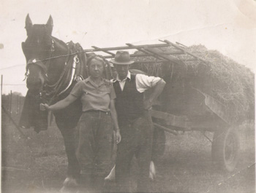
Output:
M51 16L46 24L33 25L28 14L25 28L27 39L22 42L22 49L26 57L26 85L29 90L39 91L46 82L54 83L58 79L65 58L57 56L67 54L67 45L51 36Z

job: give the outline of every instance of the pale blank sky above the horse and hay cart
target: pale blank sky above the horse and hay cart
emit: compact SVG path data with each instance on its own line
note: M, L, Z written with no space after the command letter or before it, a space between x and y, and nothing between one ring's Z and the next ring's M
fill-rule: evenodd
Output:
M26 95L21 42L28 13L34 24L47 23L51 15L52 35L83 49L167 39L203 44L256 71L255 0L0 0L0 11L4 94Z

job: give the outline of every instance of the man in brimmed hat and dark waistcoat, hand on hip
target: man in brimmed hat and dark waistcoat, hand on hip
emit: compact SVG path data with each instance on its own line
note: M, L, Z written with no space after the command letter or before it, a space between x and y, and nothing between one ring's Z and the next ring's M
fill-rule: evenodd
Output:
M140 167L138 192L149 190L149 165L153 138L153 125L148 110L161 94L165 81L159 77L143 74L130 74L129 52L118 51L110 60L118 75L113 80L116 92L116 111L120 127L121 142L116 154L117 192L129 192L129 169L133 155L138 159ZM148 100L143 101L143 92L153 89Z

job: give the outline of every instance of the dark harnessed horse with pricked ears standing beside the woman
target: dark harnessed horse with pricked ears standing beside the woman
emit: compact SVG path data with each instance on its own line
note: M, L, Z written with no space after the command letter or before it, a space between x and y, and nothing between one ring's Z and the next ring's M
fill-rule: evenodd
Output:
M22 49L26 57L27 96L29 95L30 98L39 96L39 99L42 99L42 101L34 100L37 101L36 111L39 111L39 103L53 104L60 101L67 97L77 81L88 77L86 58L89 55L83 53L79 44L72 42L66 44L51 36L53 31L51 16L45 25L33 25L27 15L25 28L27 39L22 42ZM80 175L78 159L75 157L74 128L80 118L81 107L80 100L78 100L66 109L54 112L67 153L67 179L78 179ZM31 114L34 116L34 112ZM39 112L39 118L40 114L42 112ZM45 130L45 128L37 125L37 132L39 130Z

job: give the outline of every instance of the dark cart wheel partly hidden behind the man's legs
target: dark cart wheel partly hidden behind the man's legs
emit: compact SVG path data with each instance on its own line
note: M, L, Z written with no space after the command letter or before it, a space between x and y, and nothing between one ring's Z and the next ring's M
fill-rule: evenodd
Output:
M152 161L157 162L165 152L165 131L154 128L153 145L152 145Z

